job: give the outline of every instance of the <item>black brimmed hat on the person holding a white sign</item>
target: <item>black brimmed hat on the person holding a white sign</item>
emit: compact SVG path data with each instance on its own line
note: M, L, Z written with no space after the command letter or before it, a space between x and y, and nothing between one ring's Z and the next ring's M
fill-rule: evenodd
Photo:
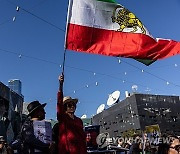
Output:
M44 108L45 106L46 106L46 103L40 104L39 101L33 101L29 103L29 105L27 106L27 110L29 112L28 116L30 116L35 110L41 107Z

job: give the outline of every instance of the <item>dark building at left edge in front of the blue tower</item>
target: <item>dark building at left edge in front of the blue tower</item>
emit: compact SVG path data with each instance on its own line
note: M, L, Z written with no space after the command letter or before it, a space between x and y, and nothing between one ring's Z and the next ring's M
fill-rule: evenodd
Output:
M10 143L20 132L24 98L0 82L0 136Z

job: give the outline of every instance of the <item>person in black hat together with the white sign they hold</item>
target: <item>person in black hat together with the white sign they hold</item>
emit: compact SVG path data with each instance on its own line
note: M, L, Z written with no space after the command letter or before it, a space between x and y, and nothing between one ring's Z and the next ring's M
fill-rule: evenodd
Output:
M22 145L21 149L18 149L20 150L19 153L49 154L53 150L53 143L50 141L52 134L47 135L44 131L46 128L46 122L44 121L45 106L46 103L40 104L39 101L33 101L27 106L28 117L30 118L27 118L24 122L18 139L12 144L14 147Z

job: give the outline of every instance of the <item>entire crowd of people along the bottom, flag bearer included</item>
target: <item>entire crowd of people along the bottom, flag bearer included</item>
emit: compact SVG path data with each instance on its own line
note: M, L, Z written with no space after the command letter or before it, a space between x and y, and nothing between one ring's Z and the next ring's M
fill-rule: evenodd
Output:
M59 76L59 90L57 93L57 120L52 129L51 142L43 142L34 135L34 121L45 119L46 103L33 101L27 106L29 114L23 123L18 137L9 145L0 136L0 154L86 154L86 134L83 122L75 116L78 99L63 95L64 75ZM128 154L180 154L180 139L177 136L168 136L169 143L152 145L150 142L136 140L118 140L117 147L126 149ZM136 142L134 142L136 141ZM144 144L145 143L145 144Z

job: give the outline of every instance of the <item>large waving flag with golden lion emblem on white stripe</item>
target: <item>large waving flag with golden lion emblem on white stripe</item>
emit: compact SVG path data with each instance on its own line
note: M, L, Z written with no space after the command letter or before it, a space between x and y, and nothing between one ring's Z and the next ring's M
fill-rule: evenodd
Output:
M70 0L65 48L154 61L179 54L180 42L153 38L135 14L114 0Z

